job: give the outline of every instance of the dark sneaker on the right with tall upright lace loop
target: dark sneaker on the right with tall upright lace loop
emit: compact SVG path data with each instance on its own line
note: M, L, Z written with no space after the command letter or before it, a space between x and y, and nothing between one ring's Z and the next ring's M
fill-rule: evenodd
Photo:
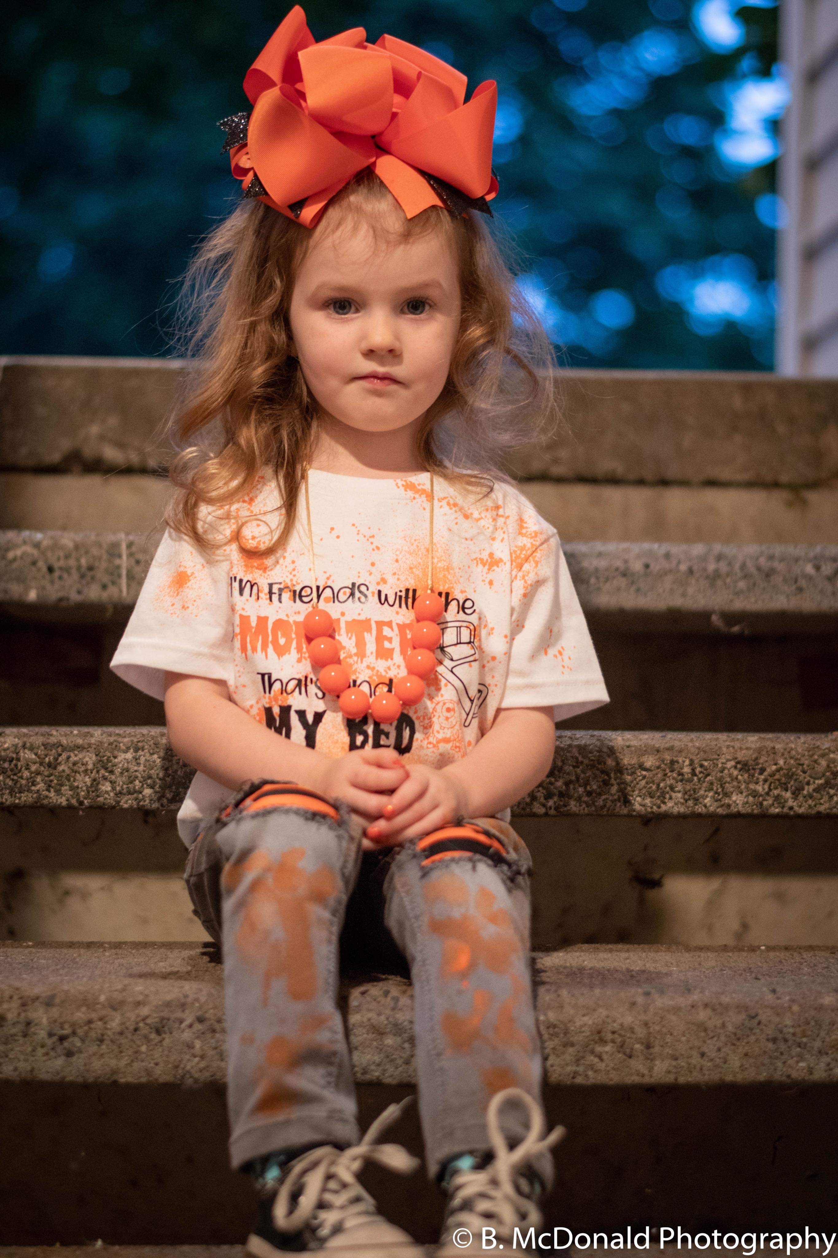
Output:
M499 1113L509 1101L524 1105L530 1116L530 1130L514 1149L506 1144L500 1130ZM489 1249L504 1249L505 1254L535 1254L538 1234L544 1215L535 1204L540 1180L529 1166L538 1154L558 1145L567 1135L564 1127L554 1127L544 1136L547 1125L540 1106L523 1088L504 1088L495 1092L486 1111L486 1126L494 1156L484 1166L476 1165L455 1170L447 1185L449 1200L442 1222L442 1235L436 1258L460 1258L482 1254ZM472 1159L479 1162L480 1159ZM491 1228L484 1245L484 1228ZM534 1244L526 1237L534 1228ZM518 1229L518 1232L515 1230ZM492 1244L494 1242L494 1244Z

